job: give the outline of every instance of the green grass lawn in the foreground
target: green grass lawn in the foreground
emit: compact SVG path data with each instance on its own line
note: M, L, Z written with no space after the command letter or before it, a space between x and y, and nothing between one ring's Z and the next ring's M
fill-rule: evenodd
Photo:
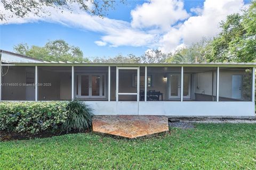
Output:
M196 124L148 139L93 133L0 142L0 169L255 169L256 124Z

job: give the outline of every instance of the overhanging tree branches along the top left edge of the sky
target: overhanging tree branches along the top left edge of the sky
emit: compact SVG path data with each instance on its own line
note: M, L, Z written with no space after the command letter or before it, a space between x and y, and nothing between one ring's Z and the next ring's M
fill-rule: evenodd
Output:
M124 2L124 0L120 0ZM49 15L49 11L45 7L53 7L63 12L64 9L73 11L73 6L77 5L80 10L91 15L105 16L106 11L115 8L115 0L1 0L6 11L10 11L13 15L10 17L24 18L28 14L41 16L44 13ZM0 12L0 19L8 20L3 11Z

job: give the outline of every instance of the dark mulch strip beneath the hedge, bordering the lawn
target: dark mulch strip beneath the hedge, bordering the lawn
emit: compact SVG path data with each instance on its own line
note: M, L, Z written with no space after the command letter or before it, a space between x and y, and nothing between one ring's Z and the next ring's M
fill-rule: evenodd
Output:
M87 133L90 130L86 130L83 132L78 131L70 131L69 134L73 133ZM28 139L35 139L35 138L49 138L59 135L67 134L66 132L40 132L37 134L30 134L30 133L18 133L18 132L6 132L0 131L0 141L11 141L11 140L28 140Z

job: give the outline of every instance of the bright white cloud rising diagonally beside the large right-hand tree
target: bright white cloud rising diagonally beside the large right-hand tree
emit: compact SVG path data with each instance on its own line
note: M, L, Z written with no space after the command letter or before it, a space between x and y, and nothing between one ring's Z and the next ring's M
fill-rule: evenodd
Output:
M190 16L179 28L171 29L163 36L160 49L166 53L172 52L180 44L189 46L202 37L216 36L220 32L219 22L225 20L227 15L239 12L243 6L243 0L206 0L201 10L197 8L197 16ZM173 38L177 40L173 42Z

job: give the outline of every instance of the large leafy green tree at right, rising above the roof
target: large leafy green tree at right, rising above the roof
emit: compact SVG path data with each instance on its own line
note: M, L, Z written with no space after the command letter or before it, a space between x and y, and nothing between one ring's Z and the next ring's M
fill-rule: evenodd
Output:
M256 59L256 1L242 14L228 15L210 45L208 62L254 62Z

